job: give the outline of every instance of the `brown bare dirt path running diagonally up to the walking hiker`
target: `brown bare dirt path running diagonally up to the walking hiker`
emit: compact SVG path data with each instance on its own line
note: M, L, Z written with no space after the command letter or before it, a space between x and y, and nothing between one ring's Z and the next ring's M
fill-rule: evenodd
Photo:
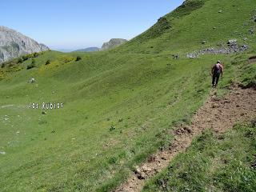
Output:
M242 90L233 87L225 98L217 98L214 91L210 98L197 114L195 114L190 126L182 126L174 130L174 142L166 150L158 151L147 162L137 167L132 177L119 186L115 192L141 191L146 179L157 174L169 165L174 156L186 150L192 139L210 128L217 133L234 126L235 122L256 118L256 90Z

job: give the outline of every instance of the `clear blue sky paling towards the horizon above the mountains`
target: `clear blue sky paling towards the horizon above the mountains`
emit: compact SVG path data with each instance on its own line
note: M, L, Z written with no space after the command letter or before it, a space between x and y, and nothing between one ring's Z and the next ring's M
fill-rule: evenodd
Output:
M102 46L110 38L134 38L183 0L3 0L0 26L50 46Z

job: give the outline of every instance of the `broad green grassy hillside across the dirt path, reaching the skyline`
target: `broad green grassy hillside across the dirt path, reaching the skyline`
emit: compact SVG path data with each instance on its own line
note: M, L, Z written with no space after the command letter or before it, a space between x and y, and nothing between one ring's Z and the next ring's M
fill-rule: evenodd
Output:
M254 84L255 63L247 58L256 54L256 38L248 32L255 28L255 6L252 0L189 1L113 50L48 51L33 55L36 67L30 70L31 57L5 63L0 70L0 151L6 152L0 154L1 191L118 186L135 165L170 142L168 130L190 122L210 91L214 62L222 60L226 70L219 94L230 83ZM250 50L186 58L230 38ZM64 107L42 114L29 109L29 102L39 107L63 102Z

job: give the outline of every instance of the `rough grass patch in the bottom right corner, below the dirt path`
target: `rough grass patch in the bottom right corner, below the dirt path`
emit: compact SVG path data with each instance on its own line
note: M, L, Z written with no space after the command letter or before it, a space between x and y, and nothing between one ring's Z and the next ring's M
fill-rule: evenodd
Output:
M256 121L226 134L207 130L143 191L255 191Z

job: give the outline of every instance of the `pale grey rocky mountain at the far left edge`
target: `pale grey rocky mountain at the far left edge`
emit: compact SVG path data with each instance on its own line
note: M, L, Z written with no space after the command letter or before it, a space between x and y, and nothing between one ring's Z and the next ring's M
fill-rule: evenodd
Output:
M11 30L6 26L0 26L0 63L6 62L11 58L18 58L22 54L31 54L49 50L43 44Z

